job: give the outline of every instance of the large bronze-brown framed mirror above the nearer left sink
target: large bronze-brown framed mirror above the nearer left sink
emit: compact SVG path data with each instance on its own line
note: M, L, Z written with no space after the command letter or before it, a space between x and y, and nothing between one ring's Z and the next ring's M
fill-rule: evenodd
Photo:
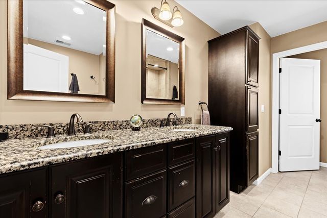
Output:
M114 103L114 85L114 4L8 1L8 99Z

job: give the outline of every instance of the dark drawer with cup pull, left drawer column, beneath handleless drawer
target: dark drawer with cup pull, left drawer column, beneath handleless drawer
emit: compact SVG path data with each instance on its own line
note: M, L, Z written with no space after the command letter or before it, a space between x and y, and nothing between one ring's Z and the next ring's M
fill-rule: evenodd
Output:
M166 214L166 170L125 184L125 217Z

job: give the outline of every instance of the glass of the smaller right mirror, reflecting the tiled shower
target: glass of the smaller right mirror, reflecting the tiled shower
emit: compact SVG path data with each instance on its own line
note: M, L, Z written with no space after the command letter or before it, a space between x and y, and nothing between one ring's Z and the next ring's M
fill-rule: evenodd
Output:
M147 29L146 98L178 100L179 43Z

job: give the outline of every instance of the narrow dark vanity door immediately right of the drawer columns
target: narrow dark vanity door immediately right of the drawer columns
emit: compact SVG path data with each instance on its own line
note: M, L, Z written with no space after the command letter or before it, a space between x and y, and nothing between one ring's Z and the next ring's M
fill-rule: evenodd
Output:
M216 136L196 139L196 217L216 213Z

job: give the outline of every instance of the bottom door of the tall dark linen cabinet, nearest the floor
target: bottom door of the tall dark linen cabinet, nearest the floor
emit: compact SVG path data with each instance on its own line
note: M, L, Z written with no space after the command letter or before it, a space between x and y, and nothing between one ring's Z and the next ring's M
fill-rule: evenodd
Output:
M259 132L246 134L246 153L247 153L247 168L248 168L248 186L258 179L258 161L259 161Z

